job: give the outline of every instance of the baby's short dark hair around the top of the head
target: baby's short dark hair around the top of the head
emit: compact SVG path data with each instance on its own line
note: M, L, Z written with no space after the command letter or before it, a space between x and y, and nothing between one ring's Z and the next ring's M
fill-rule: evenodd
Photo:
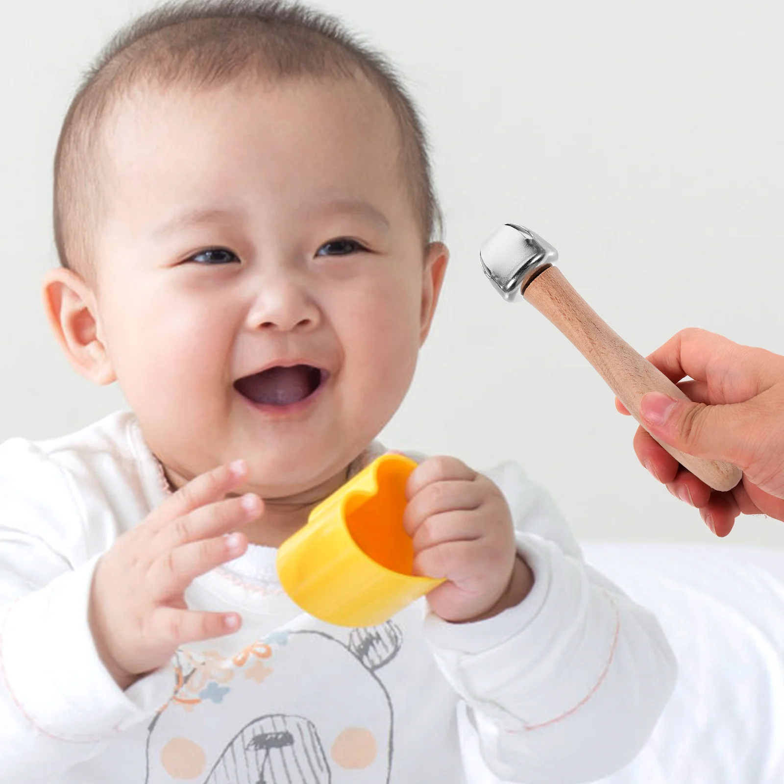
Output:
M334 16L279 0L176 2L114 35L68 109L54 165L54 230L64 267L88 271L89 231L101 190L101 122L140 85L209 87L246 74L366 78L394 114L401 167L425 241L440 230L423 122L388 60L358 42Z

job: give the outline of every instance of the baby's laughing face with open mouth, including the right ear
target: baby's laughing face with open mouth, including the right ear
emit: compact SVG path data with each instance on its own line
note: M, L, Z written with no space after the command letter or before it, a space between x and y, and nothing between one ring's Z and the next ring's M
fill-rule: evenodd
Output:
M267 497L342 477L411 382L446 263L364 83L172 89L107 122L99 334L182 484L242 457Z

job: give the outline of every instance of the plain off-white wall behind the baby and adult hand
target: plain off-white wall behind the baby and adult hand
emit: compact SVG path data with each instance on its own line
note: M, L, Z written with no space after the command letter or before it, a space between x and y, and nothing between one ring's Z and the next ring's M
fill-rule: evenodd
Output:
M0 440L64 434L124 405L60 356L40 304L56 263L51 162L80 74L151 2L2 3ZM452 265L390 446L477 468L519 460L591 539L713 541L637 463L633 423L557 330L503 303L477 252L532 227L647 354L702 326L784 354L778 2L331 0L400 67L434 148ZM731 542L784 545L749 517Z

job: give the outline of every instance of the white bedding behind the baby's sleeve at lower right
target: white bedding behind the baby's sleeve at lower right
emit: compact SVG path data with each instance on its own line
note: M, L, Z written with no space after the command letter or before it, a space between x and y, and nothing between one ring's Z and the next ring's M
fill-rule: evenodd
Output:
M640 755L601 784L784 784L784 550L583 543L650 608L679 678ZM466 764L495 784L466 731Z

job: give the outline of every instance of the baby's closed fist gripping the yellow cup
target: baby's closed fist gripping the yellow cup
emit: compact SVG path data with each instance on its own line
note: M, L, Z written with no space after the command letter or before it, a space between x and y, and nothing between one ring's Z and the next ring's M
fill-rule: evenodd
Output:
M453 457L432 457L406 485L403 525L414 543L414 572L445 577L427 594L446 621L478 621L519 604L533 574L517 557L514 526L501 491Z

